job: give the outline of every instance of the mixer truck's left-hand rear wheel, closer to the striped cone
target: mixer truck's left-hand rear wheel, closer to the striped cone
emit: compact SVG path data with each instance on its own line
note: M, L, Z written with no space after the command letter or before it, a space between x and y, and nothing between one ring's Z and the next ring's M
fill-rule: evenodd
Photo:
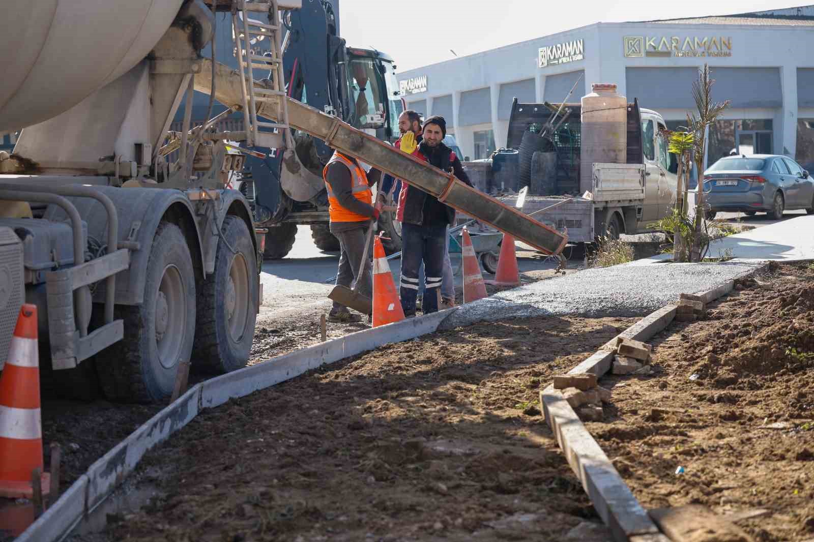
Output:
M195 270L181 228L162 222L155 232L144 302L116 306L125 338L96 360L110 400L152 402L173 392L178 364L189 361L195 339Z

